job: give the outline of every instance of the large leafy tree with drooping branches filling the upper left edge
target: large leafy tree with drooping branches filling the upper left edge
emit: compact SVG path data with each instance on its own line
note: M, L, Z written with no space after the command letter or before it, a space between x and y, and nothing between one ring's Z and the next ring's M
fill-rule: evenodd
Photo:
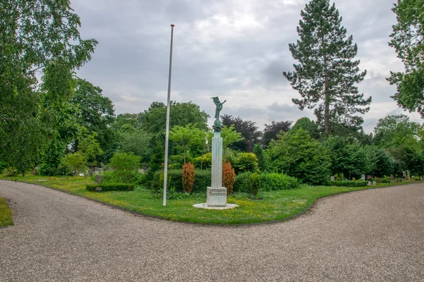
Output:
M48 110L40 104L37 77L42 75L36 74L59 63L62 71L52 71L57 75L50 78L62 87L61 82L69 82L68 75L61 76L63 70L69 74L83 66L97 44L94 39L81 39L80 25L66 0L0 2L0 157L20 172L40 158L46 135L51 135L49 127L54 126L41 121L40 114ZM56 93L59 96L49 97L50 105L59 104L68 94Z

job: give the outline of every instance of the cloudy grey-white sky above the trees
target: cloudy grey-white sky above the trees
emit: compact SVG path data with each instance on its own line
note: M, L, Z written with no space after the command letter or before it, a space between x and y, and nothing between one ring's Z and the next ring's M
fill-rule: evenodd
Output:
M396 17L394 0L335 0L342 25L358 44L358 87L372 96L363 127L372 132L387 114L408 114L390 98L385 80L402 64L387 42ZM291 99L300 97L283 77L296 63L288 44L298 39L300 11L308 0L71 0L81 35L99 44L78 75L102 88L116 114L139 113L166 103L170 24L174 28L171 99L192 101L213 116L211 97L227 100L221 114L255 121L314 119ZM419 121L418 114L408 114ZM210 120L212 123L212 120Z

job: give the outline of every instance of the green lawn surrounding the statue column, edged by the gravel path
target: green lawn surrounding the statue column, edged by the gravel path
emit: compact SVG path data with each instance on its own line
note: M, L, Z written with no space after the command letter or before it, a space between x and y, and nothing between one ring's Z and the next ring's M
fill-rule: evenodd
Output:
M247 195L232 195L228 197L228 203L238 204L240 207L226 210L209 210L192 207L193 204L206 202L206 195L190 195L178 200L167 200L167 207L163 207L161 198L153 197L151 190L140 187L129 192L88 192L85 185L94 183L89 178L66 178L61 176L57 178L43 176L20 176L16 178L18 181L63 190L74 195L81 195L89 199L113 204L117 207L141 212L142 214L158 216L170 221L211 224L242 224L283 220L305 211L320 197L368 188L302 185L301 188L295 190L263 192L261 194L264 197L263 200L251 200ZM372 186L372 188L408 183L417 183L417 181L378 184Z

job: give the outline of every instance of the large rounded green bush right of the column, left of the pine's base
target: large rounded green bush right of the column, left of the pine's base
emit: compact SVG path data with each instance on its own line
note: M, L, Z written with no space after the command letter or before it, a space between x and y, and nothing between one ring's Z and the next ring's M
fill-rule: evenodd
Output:
M298 178L301 183L325 183L331 159L327 149L305 130L278 135L267 150L271 169Z

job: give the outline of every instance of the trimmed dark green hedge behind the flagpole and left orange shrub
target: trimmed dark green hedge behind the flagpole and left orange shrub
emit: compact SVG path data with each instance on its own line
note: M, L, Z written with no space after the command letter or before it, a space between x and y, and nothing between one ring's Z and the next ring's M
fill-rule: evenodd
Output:
M162 177L161 177L162 175ZM174 188L177 192L184 192L182 189L182 170L171 169L167 171L167 188ZM211 171L195 170L193 192L206 192L207 187L211 187ZM163 189L163 171L156 171L150 183L151 189L158 192Z

